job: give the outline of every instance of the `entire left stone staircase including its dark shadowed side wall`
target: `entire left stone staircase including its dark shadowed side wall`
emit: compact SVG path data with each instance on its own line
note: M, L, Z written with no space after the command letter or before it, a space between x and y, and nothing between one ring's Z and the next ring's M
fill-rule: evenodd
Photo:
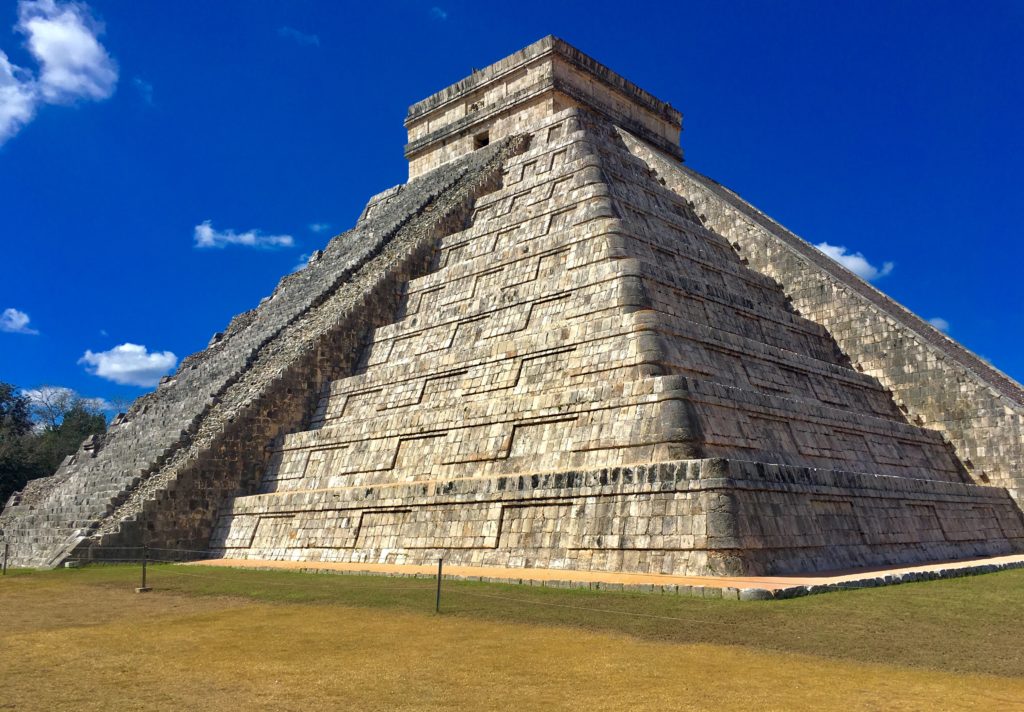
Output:
M308 421L323 384L351 368L368 330L393 319L436 240L461 227L473 200L500 184L504 158L523 148L511 138L375 197L353 231L183 361L104 442L12 498L0 528L13 563L118 558L142 542L205 550L224 498L259 484L272 442Z

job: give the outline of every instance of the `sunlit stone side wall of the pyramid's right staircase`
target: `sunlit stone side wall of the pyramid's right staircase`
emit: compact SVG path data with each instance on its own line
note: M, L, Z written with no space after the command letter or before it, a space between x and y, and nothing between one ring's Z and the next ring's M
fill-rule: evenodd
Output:
M953 445L975 481L1024 501L1024 391L738 196L623 131L624 140L749 264L823 325L855 368L878 378L920 425Z

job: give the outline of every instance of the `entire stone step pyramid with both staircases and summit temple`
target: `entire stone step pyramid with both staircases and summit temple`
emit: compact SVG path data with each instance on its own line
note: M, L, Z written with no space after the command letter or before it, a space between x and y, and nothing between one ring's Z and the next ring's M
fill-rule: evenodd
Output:
M15 495L12 563L1024 551L1021 386L683 165L681 120L553 37L414 103L409 181Z

